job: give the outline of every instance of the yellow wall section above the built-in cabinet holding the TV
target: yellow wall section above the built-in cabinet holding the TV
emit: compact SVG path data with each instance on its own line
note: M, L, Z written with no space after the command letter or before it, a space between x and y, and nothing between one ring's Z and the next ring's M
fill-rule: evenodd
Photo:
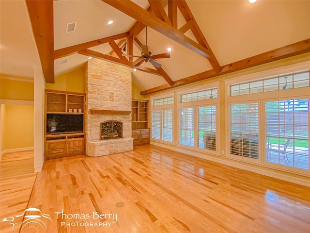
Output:
M84 67L80 67L71 72L56 76L55 83L46 83L45 88L50 90L85 93L84 69Z

